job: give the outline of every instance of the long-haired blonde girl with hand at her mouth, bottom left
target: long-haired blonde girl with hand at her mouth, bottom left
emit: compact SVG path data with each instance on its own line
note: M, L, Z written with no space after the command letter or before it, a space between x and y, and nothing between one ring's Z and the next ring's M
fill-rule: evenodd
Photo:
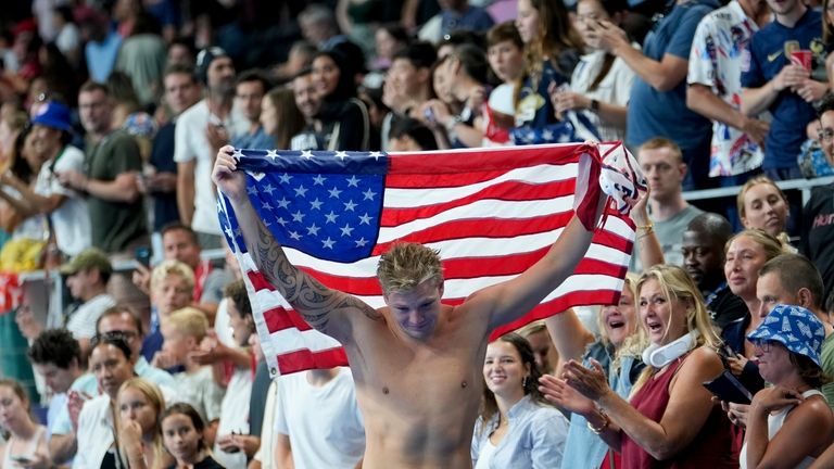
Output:
M118 462L129 468L164 468L174 462L162 446L160 421L165 410L162 391L142 378L130 378L118 389L116 407Z

